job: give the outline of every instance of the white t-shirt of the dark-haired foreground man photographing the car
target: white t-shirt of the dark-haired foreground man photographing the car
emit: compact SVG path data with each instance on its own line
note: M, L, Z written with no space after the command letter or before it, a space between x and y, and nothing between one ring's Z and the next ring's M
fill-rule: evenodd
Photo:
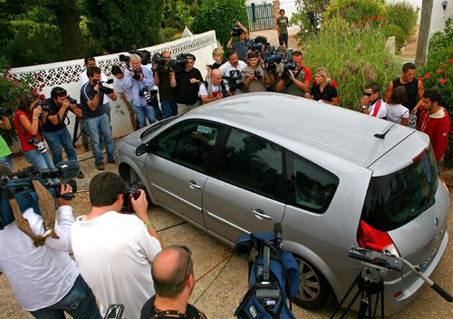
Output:
M140 318L141 307L154 295L150 262L161 249L159 241L136 216L109 211L82 218L72 226L72 250L102 316L110 304L124 304L126 318Z

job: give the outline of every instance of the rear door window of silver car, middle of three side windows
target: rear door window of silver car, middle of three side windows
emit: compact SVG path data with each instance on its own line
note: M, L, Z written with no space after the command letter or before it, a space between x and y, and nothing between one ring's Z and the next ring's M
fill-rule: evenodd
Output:
M233 129L226 140L217 176L238 187L282 200L283 150L268 140Z

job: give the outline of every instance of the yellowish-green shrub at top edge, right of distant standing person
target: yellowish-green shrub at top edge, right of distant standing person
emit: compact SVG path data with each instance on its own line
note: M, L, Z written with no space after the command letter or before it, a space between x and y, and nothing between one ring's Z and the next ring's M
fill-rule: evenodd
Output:
M352 25L380 25L387 15L385 0L336 0L331 1L324 13L324 21L340 15Z

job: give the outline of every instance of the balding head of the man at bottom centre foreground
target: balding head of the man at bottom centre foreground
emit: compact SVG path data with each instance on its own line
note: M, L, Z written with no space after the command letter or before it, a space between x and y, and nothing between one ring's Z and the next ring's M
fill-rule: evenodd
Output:
M188 276L193 274L192 258L183 247L164 248L154 259L151 273L157 295L176 297L184 290Z

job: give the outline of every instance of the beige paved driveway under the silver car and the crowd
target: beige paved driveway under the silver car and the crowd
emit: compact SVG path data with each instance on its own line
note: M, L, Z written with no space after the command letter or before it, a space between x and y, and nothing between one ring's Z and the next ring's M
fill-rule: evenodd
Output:
M97 174L91 158L91 152L79 155L85 179L78 182L79 194L74 199L74 215L85 214L90 209L88 184L92 176ZM27 166L23 159L14 160L14 170ZM114 165L106 165L106 169L115 171ZM453 196L450 194L450 202ZM452 206L450 205L450 214ZM233 255L230 247L208 236L198 228L172 215L168 211L149 208L149 218L156 225L159 236L165 246L184 244L191 248L195 263L195 275L198 278L192 304L207 314L208 318L233 318L236 306L247 290L246 260ZM449 219L449 228L453 227L453 218ZM449 235L450 241L452 235ZM453 248L451 243L432 279L450 294L453 294ZM319 312L306 311L294 305L297 318L329 318L333 313L333 305ZM355 318L356 314L348 314L346 318ZM425 287L403 312L392 316L402 318L452 318L453 307L429 287ZM5 275L0 275L0 319L32 318L25 312L14 298L12 289ZM129 318L131 319L131 318Z

